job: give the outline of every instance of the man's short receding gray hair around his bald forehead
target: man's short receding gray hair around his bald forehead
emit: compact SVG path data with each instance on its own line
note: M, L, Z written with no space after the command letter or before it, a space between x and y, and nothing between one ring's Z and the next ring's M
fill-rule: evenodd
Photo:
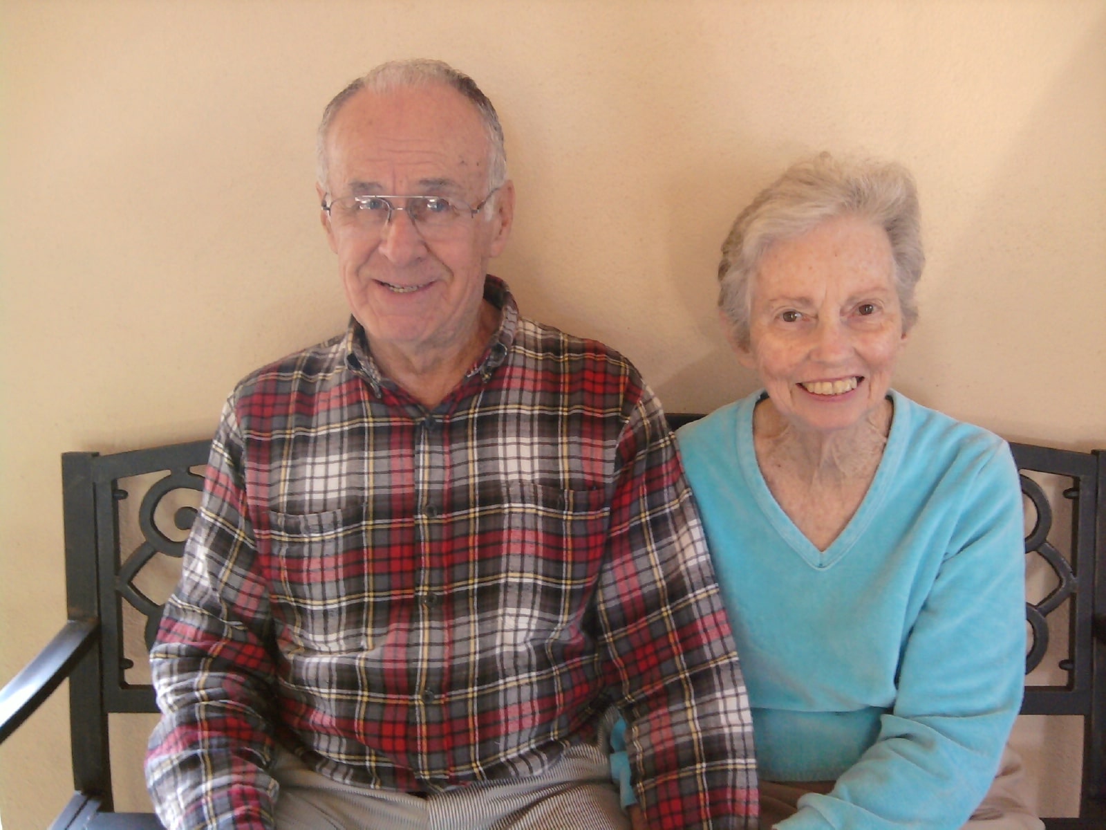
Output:
M382 63L349 83L342 92L335 95L331 103L323 111L323 118L319 123L319 133L315 143L315 155L317 164L317 177L320 186L328 189L328 159L326 157L326 138L331 132L331 125L338 112L362 90L369 90L376 93L387 93L393 90L428 86L430 84L445 84L450 89L461 93L480 114L484 133L488 136L490 155L488 159L488 189L492 190L502 187L507 181L507 149L503 146L503 127L499 123L499 115L492 106L488 96L480 91L477 82L450 66L445 61L431 61L424 58L416 58L407 61L389 61Z

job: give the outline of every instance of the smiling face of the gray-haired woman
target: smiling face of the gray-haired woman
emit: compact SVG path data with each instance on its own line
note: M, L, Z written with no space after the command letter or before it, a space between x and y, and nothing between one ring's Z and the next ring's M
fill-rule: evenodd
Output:
M881 406L906 340L893 269L886 232L854 216L768 250L735 350L792 426L848 429Z

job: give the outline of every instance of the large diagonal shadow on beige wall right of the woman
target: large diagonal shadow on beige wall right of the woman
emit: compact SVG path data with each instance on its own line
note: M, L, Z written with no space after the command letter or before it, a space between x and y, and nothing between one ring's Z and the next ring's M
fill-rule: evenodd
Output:
M902 360L922 403L954 400L950 415L1009 440L1083 452L1106 443L1106 400L1086 383L1088 369L1092 376L1106 369L1106 338L1067 322L1106 307L1106 89L1087 84L1104 76L1104 43L1106 10L997 159L983 183L989 191L975 199L987 211L966 222L962 238L948 240L947 281L924 300L916 342ZM1044 165L1042 158L1082 162ZM925 194L922 200L925 221L940 206ZM1088 248L1097 257L1088 257ZM1079 251L1077 261L1099 264L1073 271L1071 251ZM970 352L939 334L972 330L984 336ZM990 403L1009 401L1012 390L1023 391L1016 406ZM1062 424L1056 413L1064 413Z

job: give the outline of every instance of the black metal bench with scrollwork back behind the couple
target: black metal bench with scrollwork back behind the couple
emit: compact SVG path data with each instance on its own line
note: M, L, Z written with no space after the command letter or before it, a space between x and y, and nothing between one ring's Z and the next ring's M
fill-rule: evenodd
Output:
M679 425L693 417L671 415L669 421ZM108 715L156 712L149 684L128 679L135 661L126 653L124 623L125 618L138 619L142 639L147 645L153 640L161 609L138 588L139 572L159 559L181 556L181 539L195 508L175 504L181 491L190 492L196 504L196 491L204 486L199 468L207 461L208 447L208 442L195 442L106 456L62 456L69 619L53 641L0 691L2 743L63 679L70 682L75 792L52 830L160 827L153 815L114 811ZM1026 604L1032 631L1026 671L1048 665L1058 647L1061 654L1052 668L1062 678L1052 685L1027 685L1022 713L1079 715L1084 720L1079 818L1046 819L1045 823L1050 830L1104 828L1106 450L1073 453L1014 444L1013 452L1023 473L1023 492L1035 512L1026 553L1040 557L1055 574L1054 587ZM149 484L149 474L160 476ZM1036 474L1045 474L1060 486L1042 486ZM134 481L145 484L145 492ZM121 512L136 520L139 533L134 547L121 530ZM1066 625L1054 623L1050 629L1050 620L1065 616ZM1056 642L1063 641L1064 633L1066 645Z

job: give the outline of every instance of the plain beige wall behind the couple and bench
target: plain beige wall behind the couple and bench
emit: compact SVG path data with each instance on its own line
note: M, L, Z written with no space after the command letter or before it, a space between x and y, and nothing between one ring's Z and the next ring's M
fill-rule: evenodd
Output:
M737 210L796 155L862 148L922 195L897 385L1106 446L1104 0L0 0L0 681L64 619L59 454L206 437L236 380L343 325L314 125L416 54L502 113L518 222L495 272L669 409L753 387L713 312ZM8 830L67 795L63 703L0 749Z

